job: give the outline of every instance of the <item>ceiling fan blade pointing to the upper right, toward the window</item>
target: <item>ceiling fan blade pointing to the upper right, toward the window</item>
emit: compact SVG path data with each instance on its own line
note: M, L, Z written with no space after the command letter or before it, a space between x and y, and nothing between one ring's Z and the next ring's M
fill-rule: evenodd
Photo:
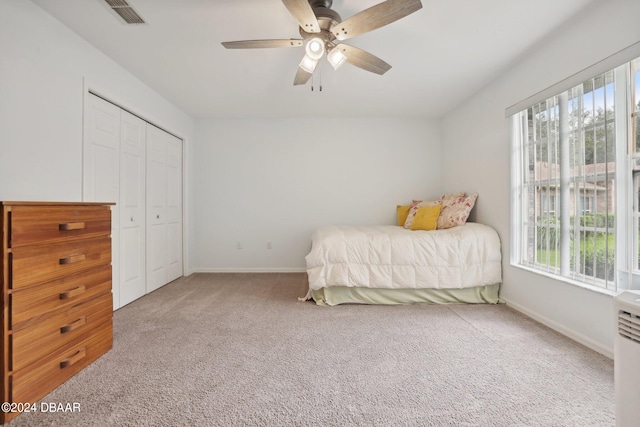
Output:
M387 0L333 25L331 32L338 40L347 40L391 24L421 8L420 0Z

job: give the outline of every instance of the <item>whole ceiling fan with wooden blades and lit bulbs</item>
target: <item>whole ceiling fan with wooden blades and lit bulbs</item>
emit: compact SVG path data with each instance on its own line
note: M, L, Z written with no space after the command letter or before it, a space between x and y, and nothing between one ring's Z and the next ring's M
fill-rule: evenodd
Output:
M227 49L303 47L294 85L303 85L313 75L325 54L334 69L348 62L363 70L384 74L391 68L382 59L340 41L373 31L422 8L420 0L386 0L344 21L331 9L333 0L282 0L300 25L301 39L265 39L223 42ZM338 40L338 42L336 41Z

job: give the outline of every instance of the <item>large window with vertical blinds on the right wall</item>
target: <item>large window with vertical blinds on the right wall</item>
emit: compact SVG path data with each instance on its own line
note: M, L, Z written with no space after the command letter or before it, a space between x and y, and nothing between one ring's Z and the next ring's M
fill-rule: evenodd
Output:
M640 274L640 58L512 120L512 262L612 291Z

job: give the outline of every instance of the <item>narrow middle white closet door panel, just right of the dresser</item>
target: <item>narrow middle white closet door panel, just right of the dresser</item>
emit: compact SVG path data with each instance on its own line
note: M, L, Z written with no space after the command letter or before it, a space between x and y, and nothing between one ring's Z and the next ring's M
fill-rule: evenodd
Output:
M147 123L121 113L120 138L120 306L146 293L145 147Z

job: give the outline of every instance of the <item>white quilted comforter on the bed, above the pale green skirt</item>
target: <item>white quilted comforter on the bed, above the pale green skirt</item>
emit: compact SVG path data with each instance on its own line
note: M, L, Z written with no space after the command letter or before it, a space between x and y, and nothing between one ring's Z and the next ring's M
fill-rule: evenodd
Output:
M306 256L309 289L470 288L501 283L500 239L486 225L434 231L326 226Z

